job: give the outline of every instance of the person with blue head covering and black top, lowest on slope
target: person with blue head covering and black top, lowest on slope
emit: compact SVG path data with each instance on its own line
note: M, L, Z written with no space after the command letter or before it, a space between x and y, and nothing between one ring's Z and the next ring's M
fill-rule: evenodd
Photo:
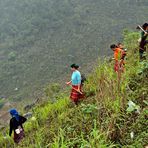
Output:
M12 131L14 131L14 142L19 143L24 137L24 129L22 124L27 120L23 116L20 116L16 109L11 109L10 115L12 118L10 119L10 130L9 136L11 136Z

